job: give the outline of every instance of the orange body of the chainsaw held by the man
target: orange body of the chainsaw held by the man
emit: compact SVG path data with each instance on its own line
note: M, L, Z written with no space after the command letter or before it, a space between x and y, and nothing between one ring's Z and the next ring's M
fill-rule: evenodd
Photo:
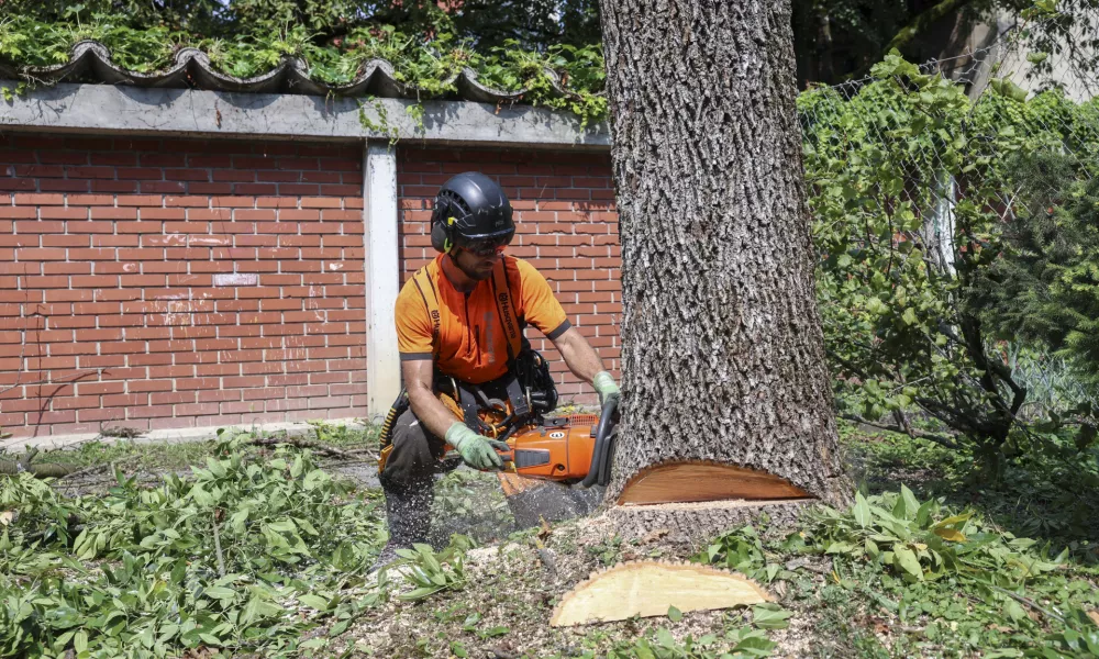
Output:
M504 456L504 469L526 478L584 480L591 468L598 423L595 414L575 414L518 431L508 437L511 454Z

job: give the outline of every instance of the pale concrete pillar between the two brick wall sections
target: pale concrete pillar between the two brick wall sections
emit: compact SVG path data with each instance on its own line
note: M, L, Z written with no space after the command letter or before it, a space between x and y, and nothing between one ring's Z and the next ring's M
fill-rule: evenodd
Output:
M371 421L384 417L401 390L393 305L400 291L397 150L367 142L363 163L366 247L366 395Z

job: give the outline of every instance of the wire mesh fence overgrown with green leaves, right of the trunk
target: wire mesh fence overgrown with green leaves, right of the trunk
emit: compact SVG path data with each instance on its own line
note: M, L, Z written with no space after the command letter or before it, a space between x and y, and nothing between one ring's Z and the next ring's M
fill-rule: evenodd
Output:
M858 383L866 416L923 395L925 411L966 431L959 410L1025 416L1090 398L1064 359L991 332L965 335L961 309L1002 225L1056 197L1026 178L1028 161L1054 154L1076 180L1099 174L1096 24L1095 10L1070 24L997 24L961 56L889 56L866 78L799 97L829 350L841 381ZM974 361L986 356L1008 367L991 383L980 373L992 367ZM999 400L978 402L988 399Z

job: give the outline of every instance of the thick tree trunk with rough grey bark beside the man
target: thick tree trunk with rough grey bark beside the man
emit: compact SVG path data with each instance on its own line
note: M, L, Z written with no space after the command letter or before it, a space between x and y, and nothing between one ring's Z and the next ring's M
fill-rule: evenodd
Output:
M643 470L707 460L843 502L790 1L601 7L623 261L608 500Z

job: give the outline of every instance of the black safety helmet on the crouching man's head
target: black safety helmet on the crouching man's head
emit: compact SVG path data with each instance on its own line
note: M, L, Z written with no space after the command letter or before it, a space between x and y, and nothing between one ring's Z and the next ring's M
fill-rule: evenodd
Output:
M465 171L443 183L431 213L431 246L437 252L464 247L485 255L511 243L515 223L499 183Z

